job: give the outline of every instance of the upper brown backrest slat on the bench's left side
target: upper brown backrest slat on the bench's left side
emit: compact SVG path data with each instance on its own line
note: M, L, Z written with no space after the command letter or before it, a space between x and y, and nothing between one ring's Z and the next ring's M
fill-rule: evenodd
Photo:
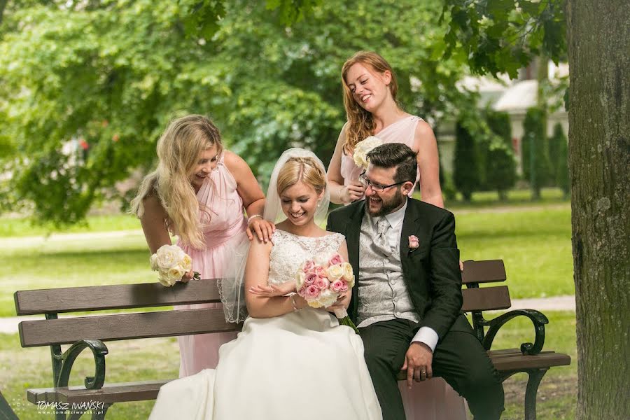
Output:
M216 281L176 283L165 288L160 283L83 286L15 292L18 315L160 307L174 304L219 302Z

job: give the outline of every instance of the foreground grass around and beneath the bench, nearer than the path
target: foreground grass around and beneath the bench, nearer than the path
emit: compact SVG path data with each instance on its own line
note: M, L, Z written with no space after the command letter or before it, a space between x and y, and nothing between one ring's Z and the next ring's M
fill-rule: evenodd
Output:
M488 314L492 317L493 314ZM538 392L539 420L569 420L575 418L577 395L577 363L575 349L575 314L549 312L545 349L568 353L572 362L568 367L549 370L542 379ZM493 349L514 348L533 339L531 322L526 319L510 321L499 332ZM107 382L123 382L174 378L179 370L176 340L156 338L109 342ZM26 400L27 388L51 386L50 352L48 348L21 349L17 334L0 334L0 387L3 395L22 420L41 419L36 406ZM90 352L83 353L76 362L71 384L81 384L83 377L93 374L94 361ZM523 418L523 398L526 375L517 374L504 382L506 411L502 419ZM114 405L108 419L146 419L153 402L127 402ZM49 415L50 417L50 415Z

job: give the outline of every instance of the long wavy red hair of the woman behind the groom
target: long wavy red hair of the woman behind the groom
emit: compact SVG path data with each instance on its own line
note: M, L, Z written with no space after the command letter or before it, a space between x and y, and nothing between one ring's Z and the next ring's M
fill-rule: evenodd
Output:
M372 118L372 113L365 111L365 109L361 108L354 100L350 87L346 82L346 76L348 75L350 67L357 63L367 66L369 70L379 75L385 71L389 71L391 73L391 82L388 85L389 92L391 92L394 102L398 103L396 100L398 81L396 80L391 66L383 57L374 51L358 51L347 59L342 66L344 108L346 109L346 118L348 119L348 123L346 124L346 141L344 141L344 153L346 153L346 155L351 155L354 151L354 146L366 137L370 137L374 132L374 118Z

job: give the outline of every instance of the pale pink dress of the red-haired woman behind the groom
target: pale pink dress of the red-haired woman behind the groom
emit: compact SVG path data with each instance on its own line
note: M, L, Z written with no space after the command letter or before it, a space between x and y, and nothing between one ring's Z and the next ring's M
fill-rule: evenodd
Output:
M402 143L413 148L416 125L421 120L416 116L401 118L374 134L374 137L384 143ZM344 185L357 181L361 172L363 169L354 163L351 155L342 155L341 174ZM418 171L416 183L419 179ZM414 190L409 193L409 197L413 192ZM407 420L466 420L465 400L442 378L414 382L411 389L407 388L405 381L399 381L398 388Z

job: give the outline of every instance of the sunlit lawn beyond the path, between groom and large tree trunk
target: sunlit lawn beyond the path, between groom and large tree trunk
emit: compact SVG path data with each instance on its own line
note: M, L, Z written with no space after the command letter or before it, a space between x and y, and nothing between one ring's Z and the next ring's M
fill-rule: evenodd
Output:
M503 260L512 298L575 294L569 207L454 213L461 259Z

